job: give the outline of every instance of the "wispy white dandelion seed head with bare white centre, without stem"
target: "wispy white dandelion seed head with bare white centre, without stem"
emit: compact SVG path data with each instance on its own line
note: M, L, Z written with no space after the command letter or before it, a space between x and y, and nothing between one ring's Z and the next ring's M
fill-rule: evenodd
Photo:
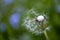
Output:
M36 15L37 14L37 15ZM33 15L33 17L31 17ZM39 35L39 34L42 34L43 33L43 30L41 29L41 24L36 22L36 18L38 21L43 21L44 20L44 24L47 23L46 19L44 19L44 17L47 15L40 15L39 13L37 13L36 11L34 11L34 9L31 9L27 12L27 15L24 16L24 24L22 25L25 25L26 28L32 32L32 34L36 34L36 35ZM38 17L37 17L38 16Z

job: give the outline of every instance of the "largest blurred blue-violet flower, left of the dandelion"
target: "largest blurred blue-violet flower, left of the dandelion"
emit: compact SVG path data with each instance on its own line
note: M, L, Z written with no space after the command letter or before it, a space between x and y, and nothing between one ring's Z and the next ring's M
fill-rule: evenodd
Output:
M12 26L13 29L18 28L17 25L19 23L19 19L20 19L20 14L19 13L14 13L10 16L9 23Z

